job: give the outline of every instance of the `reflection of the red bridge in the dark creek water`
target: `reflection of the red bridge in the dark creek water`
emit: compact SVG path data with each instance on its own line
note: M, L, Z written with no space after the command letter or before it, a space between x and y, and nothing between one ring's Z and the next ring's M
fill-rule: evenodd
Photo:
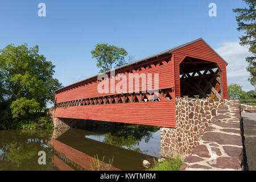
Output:
M142 161L152 162L154 159L154 156L137 152L138 148L134 151L126 149L128 147L122 148L91 139L96 136L100 137L101 134L80 129L69 129L57 136L53 134L52 163L64 171L143 170L145 168ZM104 159L103 162L102 159ZM110 166L109 163L112 165Z

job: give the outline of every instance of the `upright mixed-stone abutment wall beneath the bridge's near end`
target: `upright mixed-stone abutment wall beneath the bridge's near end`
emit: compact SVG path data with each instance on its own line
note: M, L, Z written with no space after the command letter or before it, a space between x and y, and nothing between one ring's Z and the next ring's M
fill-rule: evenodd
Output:
M187 156L199 144L217 107L225 100L176 98L176 129L160 129L162 156Z

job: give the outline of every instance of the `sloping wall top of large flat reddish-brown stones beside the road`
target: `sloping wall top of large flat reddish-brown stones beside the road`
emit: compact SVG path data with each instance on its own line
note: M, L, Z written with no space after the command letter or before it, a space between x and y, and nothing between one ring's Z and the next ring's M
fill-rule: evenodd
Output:
M242 128L240 102L222 103L180 170L242 170Z

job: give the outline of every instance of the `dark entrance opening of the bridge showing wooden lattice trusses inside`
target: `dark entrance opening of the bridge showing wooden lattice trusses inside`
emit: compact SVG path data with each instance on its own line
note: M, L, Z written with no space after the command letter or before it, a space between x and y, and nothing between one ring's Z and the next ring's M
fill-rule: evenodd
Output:
M180 64L180 96L221 99L221 72L216 63L186 57Z

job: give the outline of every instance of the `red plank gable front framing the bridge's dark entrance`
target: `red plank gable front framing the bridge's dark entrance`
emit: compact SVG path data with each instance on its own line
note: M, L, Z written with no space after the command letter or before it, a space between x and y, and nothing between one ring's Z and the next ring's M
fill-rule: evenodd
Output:
M180 97L180 69L179 64L185 56L196 57L198 59L212 61L218 65L222 72L223 98L228 99L228 85L226 78L226 63L218 56L203 40L189 44L173 51L175 59L175 93Z

